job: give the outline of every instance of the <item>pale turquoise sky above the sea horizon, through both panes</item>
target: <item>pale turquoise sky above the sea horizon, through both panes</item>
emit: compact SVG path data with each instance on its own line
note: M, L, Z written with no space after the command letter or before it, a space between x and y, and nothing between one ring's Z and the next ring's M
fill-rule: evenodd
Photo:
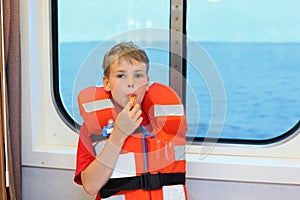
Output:
M298 0L188 0L187 33L194 41L300 42L299 8ZM168 29L169 16L170 0L59 0L60 40Z

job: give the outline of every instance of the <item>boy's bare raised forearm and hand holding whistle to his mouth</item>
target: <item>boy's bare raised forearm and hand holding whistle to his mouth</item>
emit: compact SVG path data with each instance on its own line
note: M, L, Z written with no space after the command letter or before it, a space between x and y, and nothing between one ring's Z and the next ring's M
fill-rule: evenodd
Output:
M99 192L109 180L126 138L140 126L143 120L140 106L135 105L134 108L130 110L132 104L133 101L129 101L118 114L114 129L102 152L81 172L84 190L89 194L93 195Z

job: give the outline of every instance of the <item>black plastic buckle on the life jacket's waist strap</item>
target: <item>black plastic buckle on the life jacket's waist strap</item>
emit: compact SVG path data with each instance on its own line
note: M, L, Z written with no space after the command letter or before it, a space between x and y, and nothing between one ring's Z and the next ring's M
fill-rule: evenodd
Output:
M141 174L141 189L143 190L155 190L162 187L160 182L160 173L150 174L144 173Z

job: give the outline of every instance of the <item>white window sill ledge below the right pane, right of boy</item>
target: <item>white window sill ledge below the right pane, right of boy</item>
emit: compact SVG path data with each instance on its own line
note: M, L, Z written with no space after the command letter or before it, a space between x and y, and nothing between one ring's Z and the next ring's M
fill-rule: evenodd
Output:
M187 155L187 178L300 184L300 159Z

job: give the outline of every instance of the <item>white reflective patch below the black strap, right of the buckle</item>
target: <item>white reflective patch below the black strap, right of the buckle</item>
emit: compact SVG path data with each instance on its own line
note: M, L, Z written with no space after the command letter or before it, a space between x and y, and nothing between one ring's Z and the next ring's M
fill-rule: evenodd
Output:
M183 185L163 186L164 200L185 200Z

